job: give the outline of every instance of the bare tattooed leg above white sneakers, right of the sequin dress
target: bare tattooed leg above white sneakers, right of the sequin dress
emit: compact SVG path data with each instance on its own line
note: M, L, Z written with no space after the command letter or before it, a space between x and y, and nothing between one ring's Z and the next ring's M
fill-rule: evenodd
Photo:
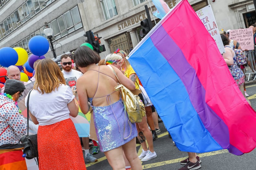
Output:
M148 149L150 150L150 152L155 152L154 151L154 146L153 146L153 138L152 138L152 133L150 132L148 125L147 125L147 121L146 121L146 117L144 116L142 118L142 122L137 123L139 126L140 131L143 132L144 136L146 137L147 143L148 143ZM140 137L141 133L140 131L138 131L138 139L141 141L142 137ZM143 146L142 146L143 147ZM143 148L144 149L144 148ZM147 149L146 149L147 150Z

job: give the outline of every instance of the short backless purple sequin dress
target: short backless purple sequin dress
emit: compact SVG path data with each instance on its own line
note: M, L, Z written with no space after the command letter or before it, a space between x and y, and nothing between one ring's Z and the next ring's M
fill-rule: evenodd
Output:
M91 107L101 152L122 146L137 136L135 123L128 122L128 115L124 114L122 99L109 106Z

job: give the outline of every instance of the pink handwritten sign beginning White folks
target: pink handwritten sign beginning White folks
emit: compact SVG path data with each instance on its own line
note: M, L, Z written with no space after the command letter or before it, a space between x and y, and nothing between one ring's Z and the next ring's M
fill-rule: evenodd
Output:
M239 42L242 50L254 50L252 28L230 30L229 38Z

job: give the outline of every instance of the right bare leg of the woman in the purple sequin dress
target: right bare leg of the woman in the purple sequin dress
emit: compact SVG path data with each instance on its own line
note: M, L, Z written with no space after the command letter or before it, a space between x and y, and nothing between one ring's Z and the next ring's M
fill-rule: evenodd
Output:
M137 155L136 151L136 141L135 138L133 138L130 142L127 142L122 146L123 152L128 159L131 168L133 170L142 170L141 161Z

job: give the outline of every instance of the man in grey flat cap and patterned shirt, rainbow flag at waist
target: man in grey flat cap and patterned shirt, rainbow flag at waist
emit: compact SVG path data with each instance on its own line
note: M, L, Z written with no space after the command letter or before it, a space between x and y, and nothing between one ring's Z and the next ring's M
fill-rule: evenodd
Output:
M7 169L27 169L23 147L18 144L26 134L27 122L16 102L25 89L22 81L9 79L4 93L0 94L0 165L4 169L5 165Z

